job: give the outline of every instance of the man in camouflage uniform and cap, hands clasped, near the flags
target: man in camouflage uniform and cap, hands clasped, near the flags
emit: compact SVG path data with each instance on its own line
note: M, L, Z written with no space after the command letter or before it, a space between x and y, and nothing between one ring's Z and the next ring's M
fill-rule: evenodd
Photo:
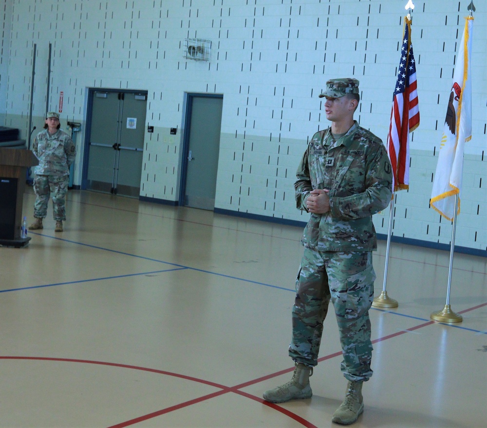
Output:
M348 380L332 421L352 424L363 411L362 383L372 375L369 309L374 298L372 251L377 248L372 214L388 206L392 168L382 141L354 121L358 80L326 82L324 109L330 128L308 144L295 182L297 208L311 214L301 243L289 355L296 364L290 382L264 392L282 403L312 395L309 376L318 363L323 321L331 300Z

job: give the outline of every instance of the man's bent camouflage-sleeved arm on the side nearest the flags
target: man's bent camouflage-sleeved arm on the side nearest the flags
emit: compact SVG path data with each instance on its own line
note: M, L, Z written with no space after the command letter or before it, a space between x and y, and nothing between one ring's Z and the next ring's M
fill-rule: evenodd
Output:
M330 197L330 213L341 219L369 217L386 208L392 197L392 167L382 143L365 160L364 191L351 196Z

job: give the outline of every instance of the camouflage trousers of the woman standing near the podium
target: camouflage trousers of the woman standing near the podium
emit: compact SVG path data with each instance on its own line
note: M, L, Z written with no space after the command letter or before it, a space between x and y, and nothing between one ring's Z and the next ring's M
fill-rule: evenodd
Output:
M53 198L53 217L56 221L66 220L66 194L68 193L69 176L36 176L34 179L34 217L45 218L47 203Z

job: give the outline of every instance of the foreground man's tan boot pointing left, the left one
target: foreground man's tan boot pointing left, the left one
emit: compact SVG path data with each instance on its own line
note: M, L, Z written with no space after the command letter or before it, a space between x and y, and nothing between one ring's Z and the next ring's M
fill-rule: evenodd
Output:
M293 378L284 385L263 393L264 400L271 403L284 403L285 401L310 398L313 395L309 384L309 376L313 375L313 368L296 363Z

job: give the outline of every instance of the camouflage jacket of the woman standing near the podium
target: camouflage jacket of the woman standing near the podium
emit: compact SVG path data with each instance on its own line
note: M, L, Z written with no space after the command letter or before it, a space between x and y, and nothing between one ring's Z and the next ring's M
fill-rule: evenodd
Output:
M69 166L74 162L76 146L66 132L58 129L56 134L49 134L47 129L39 132L32 151L39 159L35 173L46 176L68 176Z

